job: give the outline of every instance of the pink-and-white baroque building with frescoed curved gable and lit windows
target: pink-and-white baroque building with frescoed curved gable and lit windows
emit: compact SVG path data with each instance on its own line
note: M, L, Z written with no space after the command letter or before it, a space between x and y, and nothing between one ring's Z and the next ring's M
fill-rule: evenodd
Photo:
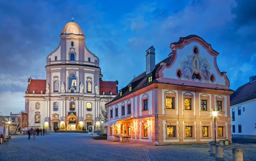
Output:
M146 51L146 71L119 90L108 106L107 139L154 145L231 140L229 79L220 72L218 52L201 37L171 43L168 57L155 65ZM213 111L217 111L216 124ZM214 112L216 113L216 112ZM216 125L216 131L215 131ZM216 135L215 135L216 132ZM215 137L216 136L216 137Z

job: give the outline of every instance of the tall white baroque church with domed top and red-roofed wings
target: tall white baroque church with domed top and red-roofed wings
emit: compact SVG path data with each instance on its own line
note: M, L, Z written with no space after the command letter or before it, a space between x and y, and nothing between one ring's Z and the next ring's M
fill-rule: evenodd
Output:
M117 95L118 81L102 81L100 60L86 47L77 23L67 23L59 36L58 47L46 58L46 79L28 79L28 128L88 130L101 121L100 107Z

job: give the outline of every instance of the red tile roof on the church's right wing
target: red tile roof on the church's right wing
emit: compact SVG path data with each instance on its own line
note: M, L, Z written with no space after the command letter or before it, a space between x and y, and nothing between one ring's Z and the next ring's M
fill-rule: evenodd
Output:
M113 93L113 95L116 95L116 82L115 81L100 81L100 94L102 92L105 93L105 95L110 95L109 91Z

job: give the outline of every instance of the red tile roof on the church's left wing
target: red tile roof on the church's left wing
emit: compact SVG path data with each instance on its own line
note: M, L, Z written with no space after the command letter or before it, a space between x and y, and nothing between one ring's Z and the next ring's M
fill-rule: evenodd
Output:
M35 94L41 94L41 91L43 91L43 94L46 92L46 79L31 79L30 84L28 84L28 90L27 93L31 94L33 91L35 91ZM29 81L28 81L29 82Z

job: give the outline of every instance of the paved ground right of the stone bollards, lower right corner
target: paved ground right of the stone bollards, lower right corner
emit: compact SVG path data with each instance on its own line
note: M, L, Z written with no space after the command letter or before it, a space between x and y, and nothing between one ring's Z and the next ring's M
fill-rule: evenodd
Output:
M238 144L238 148L243 149L244 161L256 161L256 140L254 139L242 139L242 138L232 138L233 145ZM224 153L232 158L232 148L225 148Z

